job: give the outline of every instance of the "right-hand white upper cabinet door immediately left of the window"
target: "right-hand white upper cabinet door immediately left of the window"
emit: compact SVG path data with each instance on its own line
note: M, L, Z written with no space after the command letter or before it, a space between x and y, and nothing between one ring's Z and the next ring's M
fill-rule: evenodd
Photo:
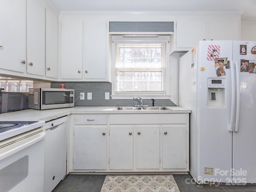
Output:
M106 79L106 21L84 21L84 78Z

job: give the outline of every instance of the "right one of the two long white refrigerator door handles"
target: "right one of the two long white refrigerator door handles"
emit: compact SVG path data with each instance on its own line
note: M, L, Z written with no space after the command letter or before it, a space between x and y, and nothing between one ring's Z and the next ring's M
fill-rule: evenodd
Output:
M238 62L235 62L236 68L236 124L235 132L239 129L239 117L240 117L240 66Z

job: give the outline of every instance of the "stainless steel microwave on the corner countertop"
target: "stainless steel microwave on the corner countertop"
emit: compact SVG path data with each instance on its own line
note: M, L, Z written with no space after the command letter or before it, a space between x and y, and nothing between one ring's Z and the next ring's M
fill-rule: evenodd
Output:
M28 108L56 109L74 107L74 89L29 88Z

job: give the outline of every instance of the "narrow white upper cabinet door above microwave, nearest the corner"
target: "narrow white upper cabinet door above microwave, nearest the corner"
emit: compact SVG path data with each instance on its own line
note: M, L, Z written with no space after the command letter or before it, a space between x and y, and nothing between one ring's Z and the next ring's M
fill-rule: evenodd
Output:
M46 70L45 76L58 78L59 64L59 16L46 8Z

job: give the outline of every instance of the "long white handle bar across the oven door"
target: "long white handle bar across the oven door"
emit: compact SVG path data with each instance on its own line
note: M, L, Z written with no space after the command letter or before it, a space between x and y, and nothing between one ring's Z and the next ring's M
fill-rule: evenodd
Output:
M45 131L0 148L0 161L45 138Z

